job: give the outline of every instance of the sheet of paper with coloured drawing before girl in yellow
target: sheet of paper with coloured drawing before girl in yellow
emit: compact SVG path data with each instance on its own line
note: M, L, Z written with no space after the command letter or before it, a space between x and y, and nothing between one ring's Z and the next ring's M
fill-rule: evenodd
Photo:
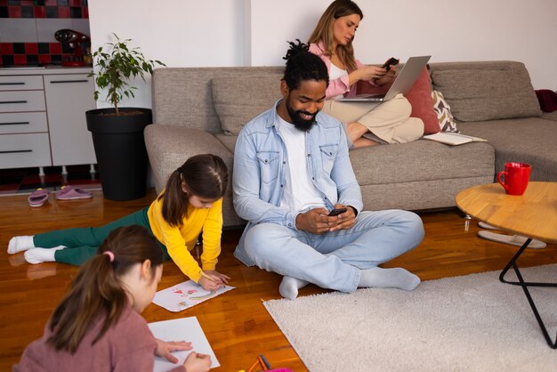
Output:
M158 291L153 298L153 303L164 307L168 311L182 311L234 288L225 286L216 291L206 291L195 281L188 280Z

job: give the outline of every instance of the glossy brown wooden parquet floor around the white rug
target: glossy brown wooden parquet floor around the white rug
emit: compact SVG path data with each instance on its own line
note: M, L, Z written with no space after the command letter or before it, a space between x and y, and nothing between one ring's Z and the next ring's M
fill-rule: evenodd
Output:
M145 198L115 202L103 199L101 191L95 191L89 200L57 201L51 196L49 203L40 208L29 207L26 196L0 198L0 370L9 370L26 345L42 336L52 309L77 273L77 268L69 265L31 265L25 263L22 254L7 255L9 239L108 223L148 206L155 196L155 191L149 190ZM516 252L516 247L477 238L476 222L465 231L463 216L456 209L420 215L426 231L422 245L385 267L404 267L423 280L440 279L502 270ZM149 322L196 316L222 365L215 370L247 370L263 353L274 368L304 371L303 362L262 305L262 301L280 297L281 278L248 268L232 256L240 233L241 230L224 232L218 265L219 271L232 278L230 285L236 289L179 313L150 304L143 316ZM556 247L527 250L521 257L521 266L557 263ZM167 262L159 289L184 279L174 263ZM310 285L301 290L301 295L323 292L326 291ZM187 335L184 338L187 340Z

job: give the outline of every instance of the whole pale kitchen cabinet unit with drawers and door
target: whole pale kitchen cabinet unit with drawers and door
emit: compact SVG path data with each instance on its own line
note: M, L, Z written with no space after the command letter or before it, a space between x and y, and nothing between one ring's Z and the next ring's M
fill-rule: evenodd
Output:
M0 168L96 164L90 68L0 69Z

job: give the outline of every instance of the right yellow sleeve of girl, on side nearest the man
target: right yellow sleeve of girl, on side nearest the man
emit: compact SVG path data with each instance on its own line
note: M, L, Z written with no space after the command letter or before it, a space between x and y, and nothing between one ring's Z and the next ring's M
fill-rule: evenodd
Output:
M221 238L222 198L213 203L203 223L203 253L201 254L203 270L215 270L218 256L221 254Z

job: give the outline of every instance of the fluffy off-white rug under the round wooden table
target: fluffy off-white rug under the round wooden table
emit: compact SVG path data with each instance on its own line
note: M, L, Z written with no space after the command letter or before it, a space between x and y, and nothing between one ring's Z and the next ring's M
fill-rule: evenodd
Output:
M557 264L521 270L557 282ZM521 287L499 271L424 281L413 292L368 288L264 303L311 372L557 371ZM507 279L515 279L514 273ZM557 288L530 288L550 337Z

